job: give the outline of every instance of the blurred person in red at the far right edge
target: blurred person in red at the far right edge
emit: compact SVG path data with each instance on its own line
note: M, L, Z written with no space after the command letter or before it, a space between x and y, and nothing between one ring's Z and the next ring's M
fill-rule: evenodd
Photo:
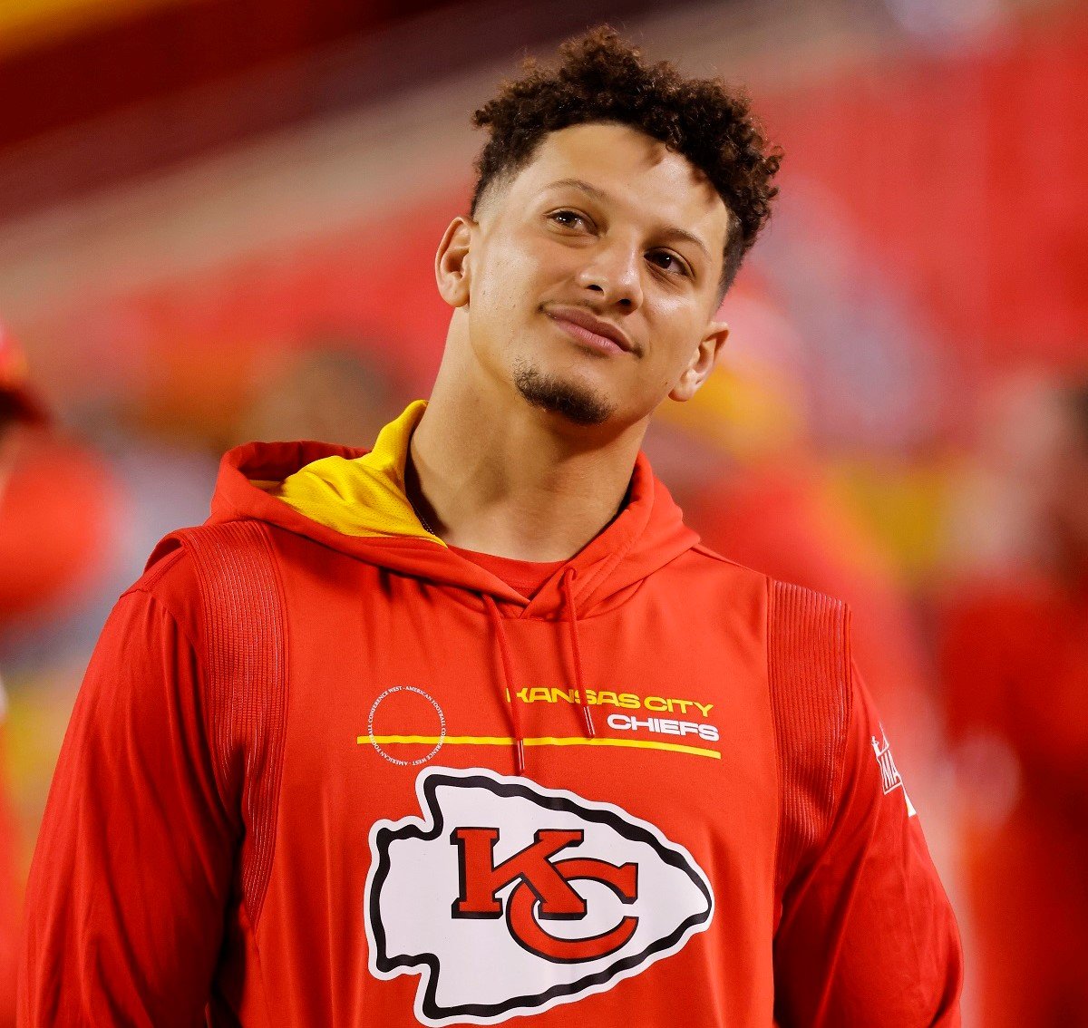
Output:
M948 598L979 1023L1088 1025L1088 382L991 408Z

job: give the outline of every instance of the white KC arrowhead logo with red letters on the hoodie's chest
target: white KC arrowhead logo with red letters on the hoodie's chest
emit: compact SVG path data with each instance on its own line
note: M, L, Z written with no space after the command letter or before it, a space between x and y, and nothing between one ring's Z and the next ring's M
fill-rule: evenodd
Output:
M611 804L484 768L432 767L422 817L370 831L378 978L419 975L424 1025L494 1025L605 992L709 927L691 854Z

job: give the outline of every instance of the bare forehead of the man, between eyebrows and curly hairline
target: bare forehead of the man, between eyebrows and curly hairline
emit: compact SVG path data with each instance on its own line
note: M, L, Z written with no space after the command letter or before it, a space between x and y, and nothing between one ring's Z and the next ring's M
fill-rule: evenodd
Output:
M685 157L628 125L572 125L544 137L508 196L523 203L553 183L578 178L631 213L696 232L725 246L726 205Z

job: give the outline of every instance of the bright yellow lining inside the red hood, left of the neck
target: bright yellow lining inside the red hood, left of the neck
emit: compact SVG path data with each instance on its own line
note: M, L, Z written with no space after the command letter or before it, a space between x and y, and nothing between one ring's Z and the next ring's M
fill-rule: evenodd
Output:
M445 546L423 528L405 493L408 441L425 409L426 400L409 404L362 457L323 457L283 482L254 484L344 535L428 538Z

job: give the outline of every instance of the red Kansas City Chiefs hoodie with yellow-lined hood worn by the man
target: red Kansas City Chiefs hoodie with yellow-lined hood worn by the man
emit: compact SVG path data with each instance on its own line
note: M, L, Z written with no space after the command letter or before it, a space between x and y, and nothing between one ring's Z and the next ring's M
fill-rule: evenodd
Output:
M527 598L411 511L421 411L232 451L119 602L22 1024L959 1024L844 608L700 546L643 457Z

